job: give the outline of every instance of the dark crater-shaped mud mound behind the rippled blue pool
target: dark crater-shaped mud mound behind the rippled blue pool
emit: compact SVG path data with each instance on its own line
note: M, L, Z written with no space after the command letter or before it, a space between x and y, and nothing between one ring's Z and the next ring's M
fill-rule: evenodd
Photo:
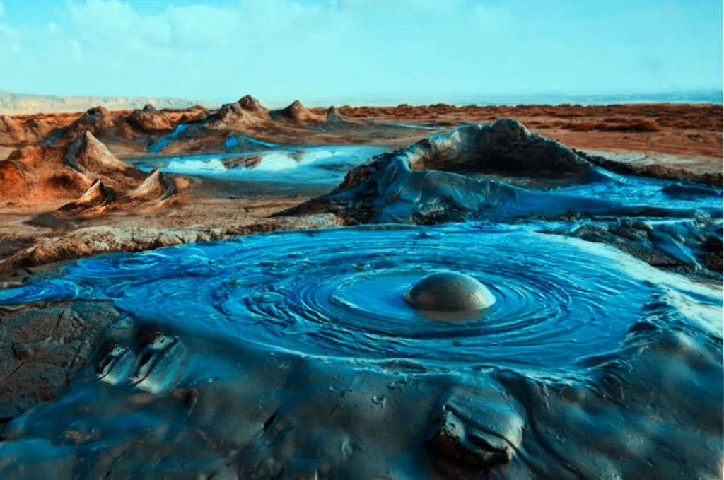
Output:
M516 177L526 174L533 175L531 185L515 185ZM543 182L536 185L536 177ZM551 179L555 188L545 188ZM427 223L571 215L720 216L724 211L718 190L670 195L668 186L620 177L514 119L500 119L376 156L350 171L334 192L280 215L333 211L350 223Z

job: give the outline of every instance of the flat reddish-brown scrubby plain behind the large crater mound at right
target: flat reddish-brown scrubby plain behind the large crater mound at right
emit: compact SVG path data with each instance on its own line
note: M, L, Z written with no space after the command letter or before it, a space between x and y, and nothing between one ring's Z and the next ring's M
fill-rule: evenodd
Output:
M712 104L617 104L350 107L350 118L437 125L490 123L510 117L534 132L574 148L724 157L724 106Z

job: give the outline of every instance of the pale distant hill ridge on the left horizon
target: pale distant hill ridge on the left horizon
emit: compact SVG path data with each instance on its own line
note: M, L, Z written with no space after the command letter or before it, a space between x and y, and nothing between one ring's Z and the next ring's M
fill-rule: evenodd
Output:
M0 90L0 114L32 114L40 112L85 111L94 106L109 110L142 109L152 104L157 109L184 109L194 105L218 108L213 101L188 98L55 96L12 93Z

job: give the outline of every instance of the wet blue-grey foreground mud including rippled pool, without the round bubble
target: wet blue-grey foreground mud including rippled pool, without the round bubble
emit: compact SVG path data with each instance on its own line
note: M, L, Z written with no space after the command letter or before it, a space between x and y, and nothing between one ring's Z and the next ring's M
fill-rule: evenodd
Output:
M496 302L463 324L420 316L404 294L437 270ZM474 223L278 233L89 258L0 291L20 299L124 315L70 392L9 422L9 478L724 468L724 291L605 245Z

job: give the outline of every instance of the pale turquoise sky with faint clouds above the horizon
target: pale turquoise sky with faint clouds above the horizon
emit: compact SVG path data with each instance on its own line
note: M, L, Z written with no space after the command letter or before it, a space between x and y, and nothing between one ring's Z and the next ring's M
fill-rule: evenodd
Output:
M724 0L0 5L0 90L331 103L724 89Z

